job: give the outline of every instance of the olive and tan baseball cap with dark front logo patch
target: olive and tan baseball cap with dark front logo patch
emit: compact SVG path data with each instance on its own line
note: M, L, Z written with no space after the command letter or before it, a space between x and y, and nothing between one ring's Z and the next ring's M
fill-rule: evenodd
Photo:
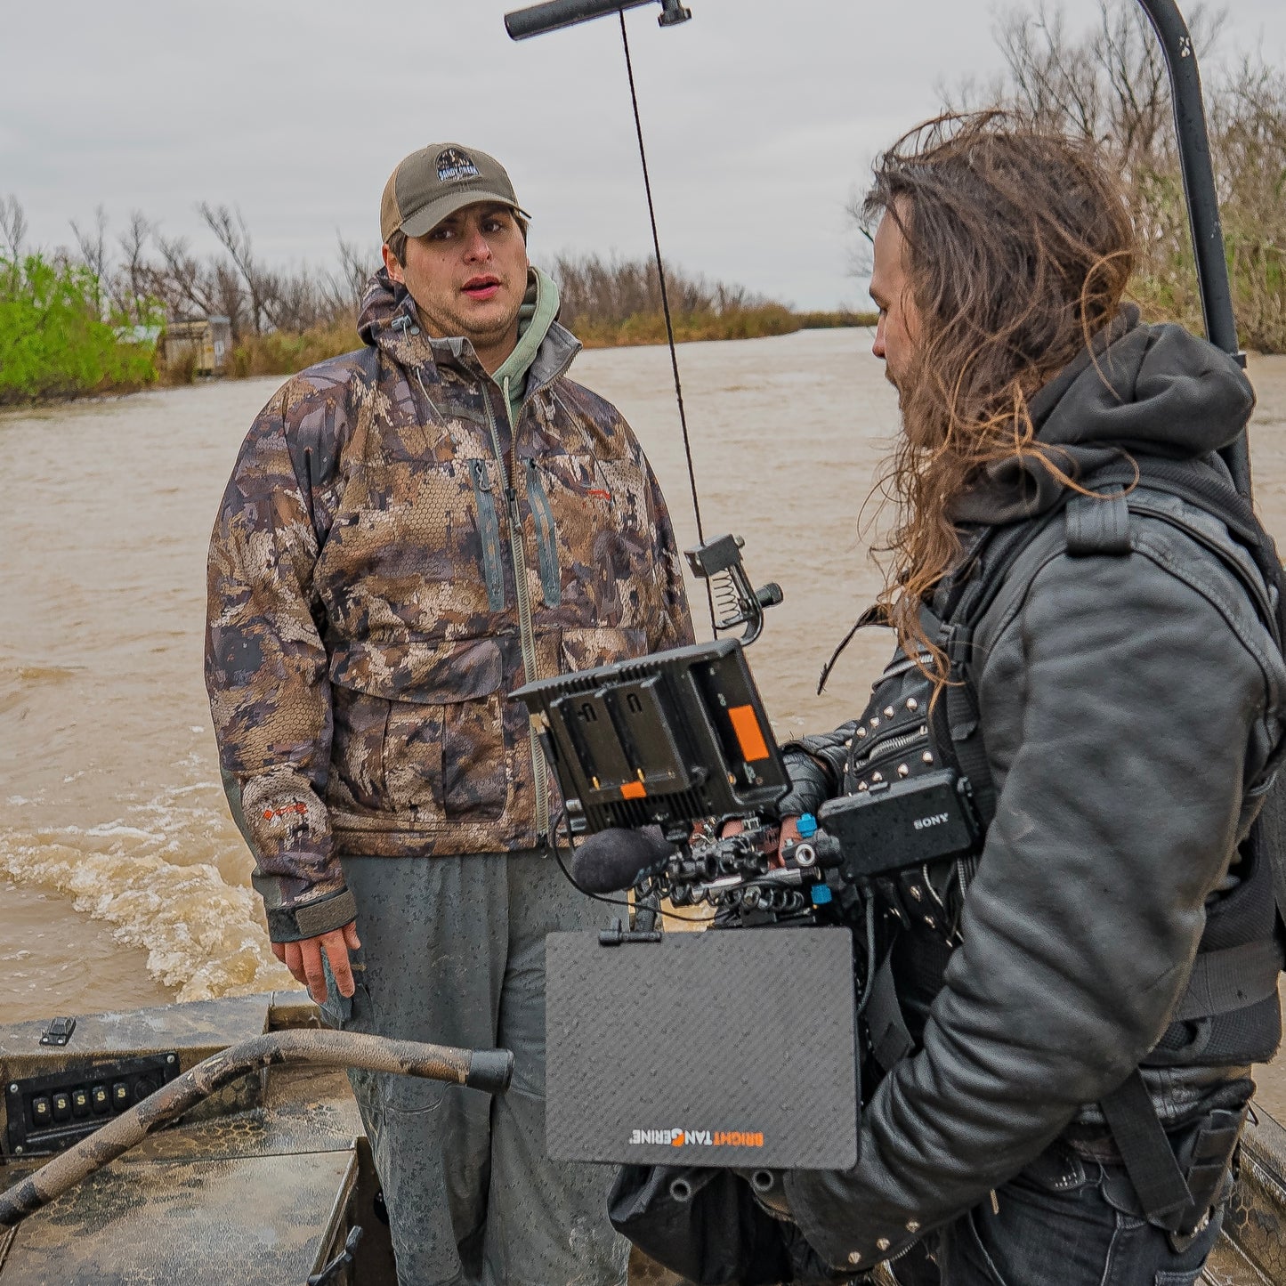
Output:
M531 219L495 157L459 143L431 143L404 157L388 176L379 201L379 234L388 240L400 228L408 237L423 237L448 215L480 201L496 201Z

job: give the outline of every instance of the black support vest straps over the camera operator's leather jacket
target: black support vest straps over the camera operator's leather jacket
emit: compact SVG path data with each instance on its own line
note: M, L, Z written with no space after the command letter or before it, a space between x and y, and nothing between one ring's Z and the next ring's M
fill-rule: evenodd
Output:
M1236 572L1278 648L1286 638L1283 574L1272 538L1250 504L1208 469L1181 462L1141 458L1133 469L1096 472L1087 480L1093 494L1065 491L1062 503L1031 522L988 529L970 552L966 568L935 601L940 615L925 608L923 621L946 655L949 684L930 714L931 743L937 755L954 760L972 788L984 826L995 814L995 786L983 743L979 702L971 676L974 633L1006 584L1010 572L1039 536L1064 516L1066 539L1047 545L1046 557L1028 568L1033 580L1052 558L1125 557L1130 553L1134 514L1173 523L1209 548ZM1173 507L1157 504L1157 494L1178 496L1218 518L1250 554L1259 577L1229 558L1204 529L1186 522ZM1220 1066L1271 1056L1281 1038L1277 980L1282 968L1286 931L1286 782L1277 769L1286 754L1280 743L1247 793L1263 791L1263 805L1241 845L1244 878L1237 890L1208 913L1188 989L1172 1016L1170 1028L1145 1066L1200 1062ZM1218 944L1218 945L1215 945ZM1138 1070L1100 1103L1112 1130L1125 1169L1148 1219L1172 1232L1187 1231L1204 1214L1205 1192L1195 1172L1184 1178ZM1235 1142L1235 1138L1233 1138ZM1222 1170L1222 1166L1220 1166Z

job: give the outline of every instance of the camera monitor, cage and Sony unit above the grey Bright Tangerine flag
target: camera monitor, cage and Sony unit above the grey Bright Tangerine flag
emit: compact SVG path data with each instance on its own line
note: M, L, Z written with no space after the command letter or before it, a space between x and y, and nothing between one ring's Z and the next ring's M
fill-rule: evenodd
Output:
M727 925L858 926L872 882L966 854L980 833L967 782L943 769L828 801L777 853L790 777L737 639L544 679L513 698L539 728L574 837L656 826L676 846L640 873L644 907L666 898L710 903ZM720 836L729 818L741 826Z

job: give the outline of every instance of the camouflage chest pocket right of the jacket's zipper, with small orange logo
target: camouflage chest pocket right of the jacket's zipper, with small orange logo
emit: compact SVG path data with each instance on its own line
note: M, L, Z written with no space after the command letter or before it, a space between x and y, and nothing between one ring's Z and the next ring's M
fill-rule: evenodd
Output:
M586 624L646 625L655 568L642 467L575 453L523 467L545 603L583 602Z

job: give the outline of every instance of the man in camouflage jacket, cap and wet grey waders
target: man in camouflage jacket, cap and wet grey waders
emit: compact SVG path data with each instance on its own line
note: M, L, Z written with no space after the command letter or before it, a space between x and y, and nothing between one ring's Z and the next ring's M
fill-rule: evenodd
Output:
M544 937L602 917L541 858L550 779L505 698L692 626L527 219L472 148L397 166L365 347L264 408L210 549L206 680L278 957L336 1026L517 1056L495 1100L351 1075L401 1286L625 1278L610 1173L545 1155Z

